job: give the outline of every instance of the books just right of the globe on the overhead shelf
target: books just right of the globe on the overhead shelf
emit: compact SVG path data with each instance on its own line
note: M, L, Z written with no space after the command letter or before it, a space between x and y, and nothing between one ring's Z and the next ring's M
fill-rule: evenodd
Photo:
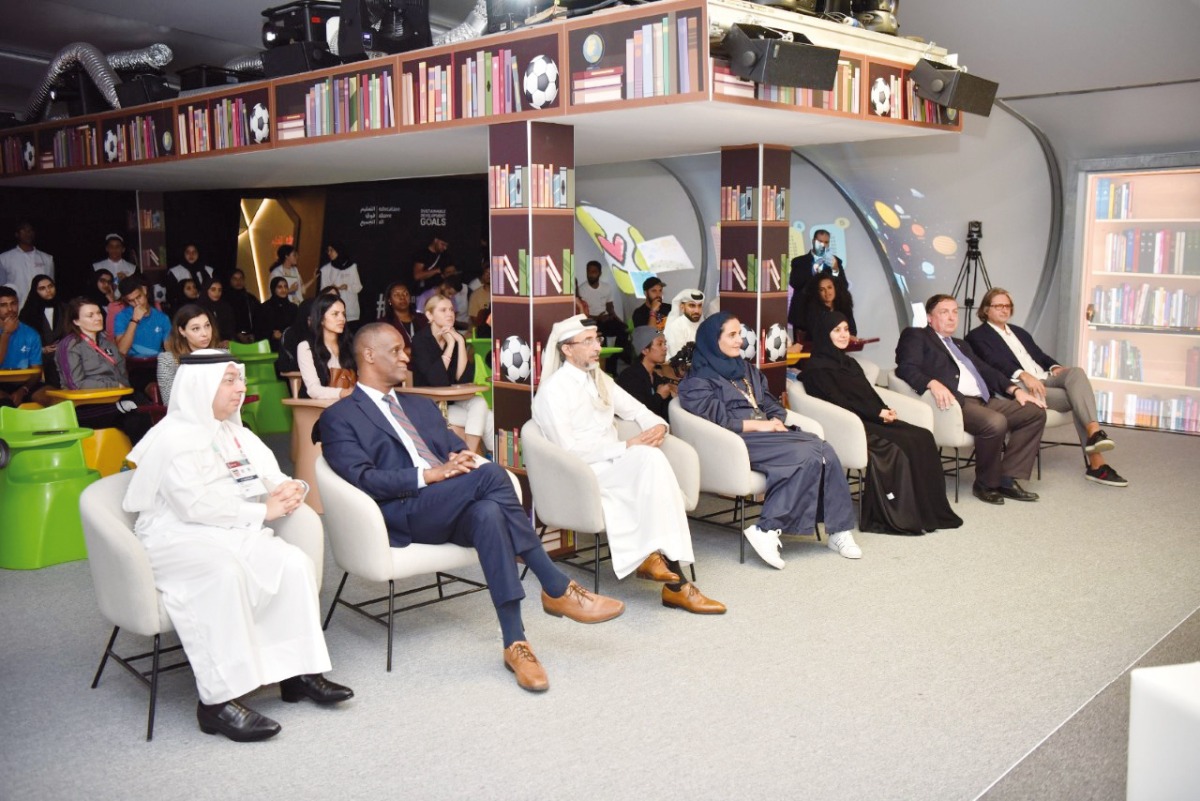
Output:
M625 97L661 97L697 91L698 19L678 16L646 23L625 40ZM672 29L673 28L673 29ZM574 76L572 76L574 78ZM593 101L595 102L595 101Z

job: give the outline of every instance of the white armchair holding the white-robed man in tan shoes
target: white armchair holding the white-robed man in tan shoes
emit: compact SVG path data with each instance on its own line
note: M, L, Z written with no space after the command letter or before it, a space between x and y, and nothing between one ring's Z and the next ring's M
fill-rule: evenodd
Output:
M629 439L637 433L636 423L617 421L617 433ZM684 495L684 508L689 512L700 501L700 458L678 436L667 435L662 440L662 453ZM592 553L590 565L578 560L565 560L568 565L593 574L593 588L600 591L600 552L606 530L604 507L600 504L600 483L583 459L554 445L535 421L529 420L521 428L521 458L529 477L534 511L544 529L563 529L594 537L590 548L577 548L576 553ZM692 580L696 566L691 566Z

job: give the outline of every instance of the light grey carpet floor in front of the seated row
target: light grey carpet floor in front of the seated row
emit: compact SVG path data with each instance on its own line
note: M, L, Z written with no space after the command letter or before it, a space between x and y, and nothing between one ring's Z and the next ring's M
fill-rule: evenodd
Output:
M1120 797L1124 743L1096 736L1114 725L1102 706L1200 608L1200 440L1111 433L1128 489L1051 448L1028 483L1040 502L966 494L962 529L860 535L860 561L790 541L784 571L739 565L734 536L695 523L697 584L721 618L608 573L625 615L580 626L545 616L530 577L544 695L505 671L486 594L403 615L391 673L383 630L340 612L332 677L356 698L320 709L263 688L250 701L283 724L264 743L203 735L187 670L162 682L146 743L137 682L109 668L88 687L109 628L86 564L0 572L0 797ZM328 559L324 604L338 578ZM1097 739L1121 776L1057 793Z

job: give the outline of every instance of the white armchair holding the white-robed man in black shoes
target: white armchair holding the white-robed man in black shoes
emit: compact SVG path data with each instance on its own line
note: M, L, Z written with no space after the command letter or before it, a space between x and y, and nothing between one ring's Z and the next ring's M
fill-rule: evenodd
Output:
M175 631L167 616L162 596L154 584L150 558L142 541L133 534L136 514L121 507L125 490L133 472L118 472L101 478L79 496L79 513L83 519L83 536L88 544L88 567L96 590L100 613L113 624L104 654L91 681L92 688L100 683L108 660L120 664L150 689L150 709L146 715L146 740L154 739L155 705L158 700L158 674L187 666L187 661L162 666L163 655L179 651L181 645L162 648L162 636ZM287 518L274 520L270 526L277 537L296 546L312 559L320 586L325 560L325 538L320 518L301 504ZM154 638L154 648L146 654L121 656L113 650L116 634L125 628L142 637ZM133 663L150 660L150 669L142 670Z

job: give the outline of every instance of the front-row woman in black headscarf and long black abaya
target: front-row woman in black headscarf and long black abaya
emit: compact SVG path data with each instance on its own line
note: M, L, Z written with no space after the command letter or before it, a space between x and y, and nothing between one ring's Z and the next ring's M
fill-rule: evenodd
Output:
M866 429L869 462L859 529L924 534L962 525L946 498L946 476L934 435L899 420L858 362L846 355L851 339L846 317L829 312L810 333L812 356L800 372L804 390L853 411Z

